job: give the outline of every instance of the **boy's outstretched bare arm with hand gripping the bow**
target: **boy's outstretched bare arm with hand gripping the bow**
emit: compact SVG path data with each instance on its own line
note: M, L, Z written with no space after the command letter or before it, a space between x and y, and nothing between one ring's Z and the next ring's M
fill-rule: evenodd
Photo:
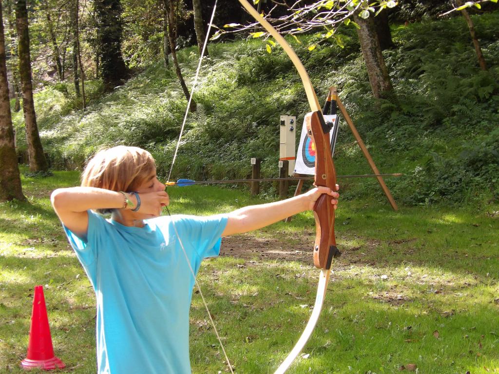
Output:
M336 189L338 189L338 186L336 186ZM234 210L229 213L229 220L222 235L227 236L256 230L304 210L311 210L322 193L333 196L331 203L334 204L336 209L338 192L333 192L326 187L313 188L306 193L286 200L250 205Z

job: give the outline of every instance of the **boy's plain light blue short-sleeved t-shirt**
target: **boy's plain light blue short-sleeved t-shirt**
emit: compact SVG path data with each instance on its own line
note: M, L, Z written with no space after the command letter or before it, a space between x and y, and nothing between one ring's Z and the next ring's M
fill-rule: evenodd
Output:
M88 211L87 240L64 227L97 298L99 374L188 374L189 309L201 261L218 256L226 215L124 226Z

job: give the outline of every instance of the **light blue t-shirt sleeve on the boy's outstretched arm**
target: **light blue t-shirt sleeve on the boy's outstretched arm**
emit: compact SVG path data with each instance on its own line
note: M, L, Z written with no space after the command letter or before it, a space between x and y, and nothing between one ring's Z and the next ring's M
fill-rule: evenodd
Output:
M179 227L179 236L189 240L189 244L201 259L219 255L222 233L228 220L227 214L206 217L179 215L175 216L175 220L181 223L175 223Z

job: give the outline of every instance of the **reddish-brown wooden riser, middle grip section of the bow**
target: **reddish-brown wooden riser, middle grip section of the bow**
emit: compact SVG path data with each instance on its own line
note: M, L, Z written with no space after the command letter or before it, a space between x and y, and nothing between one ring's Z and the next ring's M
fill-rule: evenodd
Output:
M328 187L336 190L336 171L331 157L329 142L329 124L326 124L320 111L308 113L305 117L307 133L315 144L315 181L316 187ZM315 202L313 212L315 217L315 243L313 261L319 269L330 269L332 259L340 252L336 247L334 234L334 208L332 196L322 194Z

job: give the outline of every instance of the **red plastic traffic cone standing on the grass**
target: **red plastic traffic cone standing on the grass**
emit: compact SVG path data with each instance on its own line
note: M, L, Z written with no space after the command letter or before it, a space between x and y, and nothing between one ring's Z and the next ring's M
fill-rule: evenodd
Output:
M62 361L54 356L42 286L34 288L28 353L26 358L21 361L21 366L24 369L39 368L43 370L65 367Z

